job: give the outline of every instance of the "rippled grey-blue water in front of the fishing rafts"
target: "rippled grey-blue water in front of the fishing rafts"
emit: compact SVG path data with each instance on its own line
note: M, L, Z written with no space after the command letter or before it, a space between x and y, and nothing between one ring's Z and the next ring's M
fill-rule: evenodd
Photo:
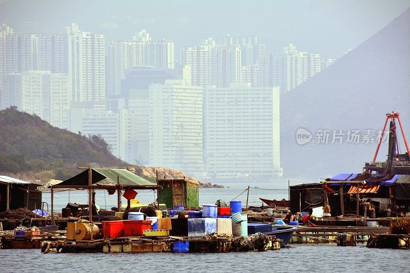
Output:
M247 253L43 254L0 250L2 272L409 272L408 250L329 244Z

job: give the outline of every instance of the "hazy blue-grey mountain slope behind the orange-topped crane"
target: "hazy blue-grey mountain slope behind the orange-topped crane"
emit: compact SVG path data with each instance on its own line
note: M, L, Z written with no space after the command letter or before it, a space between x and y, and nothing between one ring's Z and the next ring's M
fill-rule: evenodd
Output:
M399 111L410 137L410 9L334 65L281 98L281 164L286 176L319 179L361 172L376 143L346 143L348 130L382 129L385 113ZM298 145L296 131L312 133ZM317 130L342 130L343 143L315 144ZM330 142L332 137L330 138ZM363 138L360 138L362 142ZM377 140L375 140L377 141ZM385 146L378 160L385 160Z

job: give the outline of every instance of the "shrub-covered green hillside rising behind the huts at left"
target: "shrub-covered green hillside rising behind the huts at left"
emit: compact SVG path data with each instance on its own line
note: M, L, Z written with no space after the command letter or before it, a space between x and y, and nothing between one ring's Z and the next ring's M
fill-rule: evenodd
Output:
M0 111L0 173L29 180L67 179L77 166L98 162L128 166L114 157L100 136L85 136L53 127L16 108Z

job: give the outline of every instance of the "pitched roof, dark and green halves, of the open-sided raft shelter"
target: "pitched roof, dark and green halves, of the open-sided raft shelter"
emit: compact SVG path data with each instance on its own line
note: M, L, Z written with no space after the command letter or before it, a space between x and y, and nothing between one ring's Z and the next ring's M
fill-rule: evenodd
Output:
M156 187L155 183L152 183L136 174L125 170L125 169L100 169L100 168L92 168L92 184L95 184L101 180L109 179L112 183L108 184L116 184L117 177L119 177L119 182L124 186L132 186L137 187L140 186L141 188L144 187ZM107 183L104 183L107 184ZM61 183L57 184L58 186L87 186L88 185L88 170L85 170L78 175L71 177Z

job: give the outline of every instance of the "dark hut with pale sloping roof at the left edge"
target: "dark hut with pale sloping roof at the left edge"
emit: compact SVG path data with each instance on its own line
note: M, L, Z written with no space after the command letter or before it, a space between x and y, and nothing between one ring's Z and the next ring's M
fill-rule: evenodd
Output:
M0 212L27 207L33 211L42 202L39 184L2 175L0 176Z

